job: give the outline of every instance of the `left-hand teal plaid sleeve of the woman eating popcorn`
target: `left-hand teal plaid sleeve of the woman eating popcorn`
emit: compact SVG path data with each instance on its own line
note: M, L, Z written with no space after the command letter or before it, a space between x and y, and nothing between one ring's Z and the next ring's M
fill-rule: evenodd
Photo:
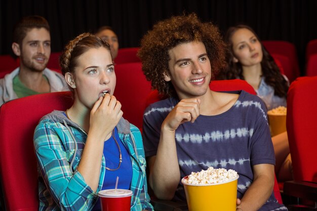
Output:
M70 166L67 135L52 122L41 121L34 132L34 148L42 177L61 210L89 210L96 194ZM69 158L71 157L71 158Z

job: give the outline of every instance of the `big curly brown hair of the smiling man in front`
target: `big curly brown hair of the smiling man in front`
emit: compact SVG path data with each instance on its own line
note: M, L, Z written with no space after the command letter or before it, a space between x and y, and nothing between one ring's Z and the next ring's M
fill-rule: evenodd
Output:
M177 96L172 83L164 80L163 73L170 74L169 50L191 41L204 43L213 75L225 66L226 45L218 27L211 22L201 22L194 13L160 21L143 36L138 56L146 79L160 94Z

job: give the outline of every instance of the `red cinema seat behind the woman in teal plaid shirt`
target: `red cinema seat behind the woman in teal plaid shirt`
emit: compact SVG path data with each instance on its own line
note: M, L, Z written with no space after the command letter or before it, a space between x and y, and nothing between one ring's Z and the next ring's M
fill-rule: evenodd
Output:
M55 92L11 100L0 107L0 177L4 210L38 210L34 129L45 114L66 110L71 105L71 92Z

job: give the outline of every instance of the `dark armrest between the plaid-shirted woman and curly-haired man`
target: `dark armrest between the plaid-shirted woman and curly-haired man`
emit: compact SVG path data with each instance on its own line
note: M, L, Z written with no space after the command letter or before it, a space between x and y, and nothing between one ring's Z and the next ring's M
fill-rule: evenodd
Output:
M184 201L169 201L152 198L151 204L155 211L188 211L187 203Z

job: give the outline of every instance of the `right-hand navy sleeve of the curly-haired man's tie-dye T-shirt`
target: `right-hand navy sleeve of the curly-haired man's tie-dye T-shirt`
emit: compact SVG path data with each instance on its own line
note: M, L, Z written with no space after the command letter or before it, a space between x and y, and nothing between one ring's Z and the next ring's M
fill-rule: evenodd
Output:
M259 100L256 109L255 126L251 138L251 165L262 163L274 165L275 155L264 103Z

